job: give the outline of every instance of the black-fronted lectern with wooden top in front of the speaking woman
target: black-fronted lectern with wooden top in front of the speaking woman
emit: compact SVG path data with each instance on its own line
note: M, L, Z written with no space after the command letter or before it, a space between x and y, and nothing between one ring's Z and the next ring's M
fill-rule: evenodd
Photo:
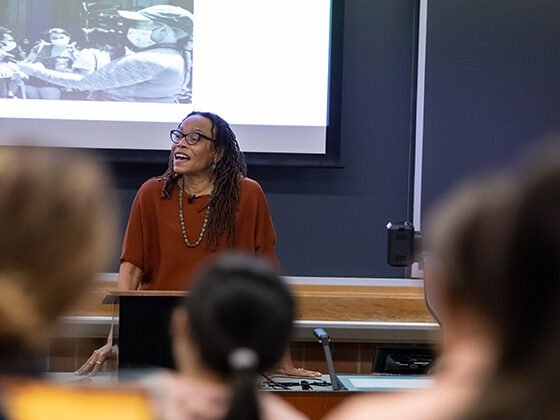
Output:
M187 295L177 291L110 291L104 304L119 305L119 371L174 368L169 320Z

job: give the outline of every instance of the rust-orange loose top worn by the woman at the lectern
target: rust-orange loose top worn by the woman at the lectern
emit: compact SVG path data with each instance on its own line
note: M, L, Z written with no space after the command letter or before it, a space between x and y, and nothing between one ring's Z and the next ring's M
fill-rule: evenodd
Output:
M205 261L228 250L222 240L215 252L206 249L206 235L195 248L185 244L179 219L179 194L175 186L171 199L160 197L163 181L152 178L138 190L130 211L121 261L142 269L141 289L185 290L191 277ZM198 240L209 196L189 201L183 193L183 218L190 243ZM212 210L211 210L212 211ZM266 257L277 264L276 234L268 204L260 185L249 178L240 181L234 249Z

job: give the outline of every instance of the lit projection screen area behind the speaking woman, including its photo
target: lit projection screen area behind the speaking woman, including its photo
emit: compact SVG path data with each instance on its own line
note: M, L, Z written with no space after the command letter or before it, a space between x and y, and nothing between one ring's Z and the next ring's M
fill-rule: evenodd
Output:
M333 1L0 0L1 142L168 150L204 110L245 152L324 156Z

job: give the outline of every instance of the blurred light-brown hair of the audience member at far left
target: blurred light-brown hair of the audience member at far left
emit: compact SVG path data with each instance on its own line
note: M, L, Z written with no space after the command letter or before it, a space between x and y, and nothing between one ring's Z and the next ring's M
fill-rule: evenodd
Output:
M86 155L0 148L0 355L38 344L111 251L108 177Z

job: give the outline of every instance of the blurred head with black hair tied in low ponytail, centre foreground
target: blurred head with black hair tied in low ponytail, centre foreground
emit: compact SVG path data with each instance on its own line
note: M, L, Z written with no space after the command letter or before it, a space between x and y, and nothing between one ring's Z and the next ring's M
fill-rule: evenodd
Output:
M199 274L180 314L172 327L179 370L230 381L226 418L257 419L256 374L279 362L291 336L294 302L283 281L262 260L224 255Z

